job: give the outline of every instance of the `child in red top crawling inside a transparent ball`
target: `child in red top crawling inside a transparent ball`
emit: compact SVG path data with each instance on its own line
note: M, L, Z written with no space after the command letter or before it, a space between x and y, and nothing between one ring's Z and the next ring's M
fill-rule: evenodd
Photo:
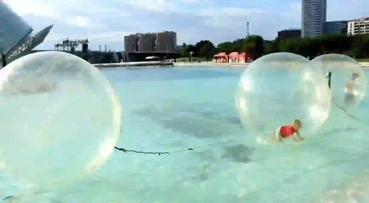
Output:
M282 142L283 138L291 138L294 142L302 142L304 138L301 137L299 130L301 129L302 124L299 119L294 119L291 125L286 125L279 127L276 131L276 137L279 142Z

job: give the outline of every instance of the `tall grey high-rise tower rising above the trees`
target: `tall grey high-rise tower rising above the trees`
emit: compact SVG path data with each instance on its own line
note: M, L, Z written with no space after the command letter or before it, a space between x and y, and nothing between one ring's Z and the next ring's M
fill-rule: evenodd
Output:
M327 0L302 0L301 37L319 37L324 33Z

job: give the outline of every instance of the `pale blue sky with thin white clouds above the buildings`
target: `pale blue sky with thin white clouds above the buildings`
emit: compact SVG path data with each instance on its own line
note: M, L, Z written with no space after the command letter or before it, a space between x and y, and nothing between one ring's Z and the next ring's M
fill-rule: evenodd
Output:
M124 35L172 30L177 44L208 39L215 45L250 34L274 39L301 27L301 0L3 0L35 31L54 24L37 49L62 39L89 38L91 50L124 49ZM328 0L327 20L369 17L368 0Z

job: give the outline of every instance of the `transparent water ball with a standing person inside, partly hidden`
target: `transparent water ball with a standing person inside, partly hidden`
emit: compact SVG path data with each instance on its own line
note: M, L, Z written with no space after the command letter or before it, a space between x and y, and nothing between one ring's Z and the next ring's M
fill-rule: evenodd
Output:
M342 54L325 54L311 60L325 76L331 72L332 99L347 112L354 110L366 93L366 75L355 59ZM326 79L327 83L329 78Z

